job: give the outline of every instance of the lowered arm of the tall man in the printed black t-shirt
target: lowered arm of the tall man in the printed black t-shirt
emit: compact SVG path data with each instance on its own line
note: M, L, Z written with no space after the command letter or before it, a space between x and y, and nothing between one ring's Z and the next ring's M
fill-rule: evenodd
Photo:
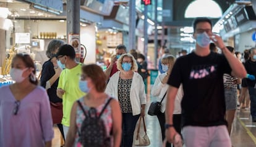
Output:
M174 110L174 101L176 98L178 88L174 86L169 86L167 99L166 99L166 110L165 110L165 119L166 124L173 125L173 110ZM175 128L168 127L166 128L165 136L169 143L173 143L174 135L176 135L177 132Z

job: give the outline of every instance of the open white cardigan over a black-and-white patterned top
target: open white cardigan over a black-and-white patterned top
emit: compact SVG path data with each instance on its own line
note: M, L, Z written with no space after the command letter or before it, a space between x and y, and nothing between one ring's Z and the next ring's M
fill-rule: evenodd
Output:
M105 92L109 96L113 96L118 100L118 81L120 71L114 73L109 79L108 85L106 86ZM139 73L134 72L132 77L132 85L130 86L130 104L132 105L132 115L140 114L142 104L146 104L145 86L142 77Z

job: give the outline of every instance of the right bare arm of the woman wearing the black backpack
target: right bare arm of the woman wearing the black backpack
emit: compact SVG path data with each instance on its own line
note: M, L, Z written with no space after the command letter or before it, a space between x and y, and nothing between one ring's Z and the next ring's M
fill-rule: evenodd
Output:
M119 103L116 99L112 99L111 103L111 115L113 119L113 137L114 137L114 147L119 147L121 145L122 139L122 113Z

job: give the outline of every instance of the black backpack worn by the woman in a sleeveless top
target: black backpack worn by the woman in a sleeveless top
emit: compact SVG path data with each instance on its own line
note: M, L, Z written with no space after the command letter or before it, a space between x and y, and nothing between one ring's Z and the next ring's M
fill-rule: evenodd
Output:
M87 114L85 112L85 109L83 109L80 101L77 101L79 107L81 107L83 114L85 115L85 119L83 120L81 128L79 130L79 142L83 145L83 147L111 146L110 137L106 132L105 124L103 122L103 119L100 118L111 99L112 98L108 99L107 103L101 110L100 115L98 116L96 115L95 107L91 107Z

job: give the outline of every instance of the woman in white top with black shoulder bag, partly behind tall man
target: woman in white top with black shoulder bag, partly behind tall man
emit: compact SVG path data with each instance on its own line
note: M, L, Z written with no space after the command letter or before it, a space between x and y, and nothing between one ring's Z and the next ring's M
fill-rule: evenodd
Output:
M151 88L151 95L156 96L158 98L158 101L161 101L161 99L164 96L162 105L161 105L161 113L157 115L157 118L160 123L161 132L162 132L162 139L165 138L165 116L164 111L166 109L166 97L167 97L167 90L168 90L168 79L171 73L171 70L173 69L173 65L175 62L175 57L172 55L164 56L161 59L162 69L164 70L164 73L161 73L156 77L155 83L153 87ZM177 132L181 133L181 99L183 97L183 90L182 85L179 87L179 90L176 95L175 104L174 104L174 112L173 112L173 125L174 128L177 130ZM170 143L166 144L167 146L171 146Z

